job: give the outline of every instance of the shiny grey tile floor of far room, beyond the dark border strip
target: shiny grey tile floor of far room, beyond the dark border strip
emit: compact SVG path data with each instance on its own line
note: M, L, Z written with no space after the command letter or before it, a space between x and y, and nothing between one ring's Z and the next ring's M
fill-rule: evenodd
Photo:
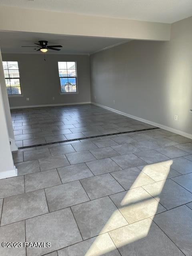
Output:
M11 115L19 147L153 127L91 104L24 108ZM106 139L97 146L112 144Z

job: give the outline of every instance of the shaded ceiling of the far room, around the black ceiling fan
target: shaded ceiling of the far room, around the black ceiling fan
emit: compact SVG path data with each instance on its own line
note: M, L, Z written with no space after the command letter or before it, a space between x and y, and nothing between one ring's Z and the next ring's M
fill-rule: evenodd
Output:
M38 53L35 44L39 40L48 41L48 45L62 45L60 51L48 50L48 54L90 54L109 48L118 44L128 42L128 40L115 38L97 38L86 36L63 36L44 33L31 32L0 32L0 48L6 53ZM21 47L21 46L33 46ZM36 48L38 49L38 48Z

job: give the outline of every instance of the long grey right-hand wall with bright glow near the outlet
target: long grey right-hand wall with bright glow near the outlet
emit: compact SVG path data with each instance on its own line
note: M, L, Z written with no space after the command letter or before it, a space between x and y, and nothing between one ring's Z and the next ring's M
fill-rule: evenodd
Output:
M92 102L192 134L191 28L192 17L172 24L169 42L131 41L91 55Z

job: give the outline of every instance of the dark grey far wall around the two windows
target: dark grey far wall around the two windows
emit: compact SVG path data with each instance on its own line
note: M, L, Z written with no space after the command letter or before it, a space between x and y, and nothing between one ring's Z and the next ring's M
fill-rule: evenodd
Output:
M87 55L2 54L19 64L23 96L9 97L10 107L90 102L90 65ZM77 62L78 94L60 94L58 61ZM52 100L55 97L55 100ZM26 101L29 98L29 101Z

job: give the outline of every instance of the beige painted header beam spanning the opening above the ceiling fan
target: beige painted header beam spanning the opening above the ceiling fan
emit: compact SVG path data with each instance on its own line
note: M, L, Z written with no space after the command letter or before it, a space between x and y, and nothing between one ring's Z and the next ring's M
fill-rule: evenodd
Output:
M46 22L42 22L46 20ZM54 22L53 22L54 21ZM65 24L70 24L66 26ZM170 24L1 6L0 30L169 40Z

